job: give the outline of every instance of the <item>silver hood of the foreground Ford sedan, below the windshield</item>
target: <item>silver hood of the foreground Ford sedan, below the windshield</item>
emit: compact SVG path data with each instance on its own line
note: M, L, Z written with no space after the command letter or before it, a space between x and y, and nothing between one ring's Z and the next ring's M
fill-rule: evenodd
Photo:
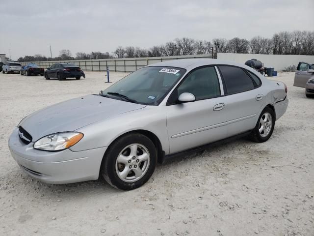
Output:
M74 131L88 124L146 107L97 95L57 103L24 118L22 126L37 141L57 132Z

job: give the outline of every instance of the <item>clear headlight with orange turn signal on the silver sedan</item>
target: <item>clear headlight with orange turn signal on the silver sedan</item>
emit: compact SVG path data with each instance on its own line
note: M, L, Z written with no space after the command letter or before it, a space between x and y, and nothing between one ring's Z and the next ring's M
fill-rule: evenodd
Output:
M45 151L61 151L72 147L83 138L82 133L64 132L47 135L34 143L34 148Z

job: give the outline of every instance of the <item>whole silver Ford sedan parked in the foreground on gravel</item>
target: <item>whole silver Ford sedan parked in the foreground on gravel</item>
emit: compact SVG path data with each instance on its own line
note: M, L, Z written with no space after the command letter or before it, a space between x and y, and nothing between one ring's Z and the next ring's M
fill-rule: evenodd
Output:
M8 145L30 176L48 183L97 179L130 190L157 161L230 137L267 141L288 107L287 87L217 59L141 68L99 94L24 118Z

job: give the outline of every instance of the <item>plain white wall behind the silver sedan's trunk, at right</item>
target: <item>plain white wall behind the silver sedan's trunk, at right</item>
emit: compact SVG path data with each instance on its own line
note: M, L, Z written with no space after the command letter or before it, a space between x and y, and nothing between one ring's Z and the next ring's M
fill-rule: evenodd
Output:
M314 63L314 56L304 55L266 55L266 54L236 54L236 53L218 53L217 59L245 63L249 59L258 59L264 63L264 66L274 66L275 70L282 71L290 65L297 66L299 61Z

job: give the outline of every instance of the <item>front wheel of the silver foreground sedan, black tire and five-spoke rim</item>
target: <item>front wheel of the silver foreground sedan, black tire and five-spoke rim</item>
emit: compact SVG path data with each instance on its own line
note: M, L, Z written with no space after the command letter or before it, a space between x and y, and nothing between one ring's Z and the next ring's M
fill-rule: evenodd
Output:
M119 156L122 158L118 159ZM145 135L127 134L118 138L107 149L101 174L111 186L131 190L148 181L156 164L157 150L154 143Z

